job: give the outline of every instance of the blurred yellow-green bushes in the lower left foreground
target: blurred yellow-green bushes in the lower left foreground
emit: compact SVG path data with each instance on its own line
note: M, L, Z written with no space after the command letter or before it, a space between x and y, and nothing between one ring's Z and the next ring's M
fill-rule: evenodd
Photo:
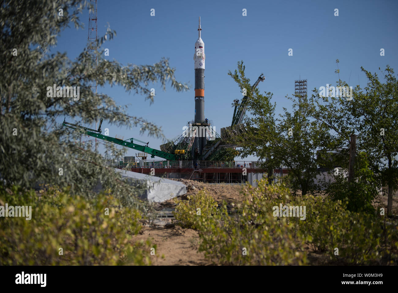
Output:
M32 206L32 215L0 218L2 265L150 264L150 242L131 241L141 228L139 211L120 207L112 196L87 200L51 190L38 197L13 187L1 189L5 203Z

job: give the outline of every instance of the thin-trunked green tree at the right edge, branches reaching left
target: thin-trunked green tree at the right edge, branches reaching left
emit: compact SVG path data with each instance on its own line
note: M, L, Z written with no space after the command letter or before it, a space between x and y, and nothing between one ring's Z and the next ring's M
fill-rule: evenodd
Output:
M319 95L315 89L310 101L311 113L334 133L332 144L335 148L347 149L350 134L357 135L357 153L366 153L373 179L379 187L388 185L387 214L391 216L392 193L398 177L398 83L388 65L385 83L380 82L376 73L363 67L361 70L368 78L364 89L357 85L348 97L340 94L327 97ZM337 82L337 87L348 86L341 79Z

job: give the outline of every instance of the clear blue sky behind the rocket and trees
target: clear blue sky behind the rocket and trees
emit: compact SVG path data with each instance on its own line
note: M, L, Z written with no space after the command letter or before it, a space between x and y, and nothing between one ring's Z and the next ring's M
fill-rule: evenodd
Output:
M150 10L155 9L155 16ZM247 16L242 16L242 9ZM334 16L338 9L339 16ZM216 131L229 126L232 100L241 98L240 88L227 75L237 62L244 61L246 77L252 83L264 73L259 84L264 92L273 92L276 113L291 106L286 95L294 93L295 79L308 80L308 91L335 84L338 76L354 86L366 84L360 67L378 72L386 65L398 71L397 28L398 2L391 0L353 1L123 1L98 0L98 36L109 26L117 36L105 42L109 60L127 65L152 65L162 57L176 68L176 79L189 83L187 92L168 87L155 88L154 103L144 97L126 93L122 87L98 88L120 105L129 105L129 114L146 118L162 127L166 138L176 138L186 122L194 117L193 53L201 16L205 43L205 117L213 120ZM85 28L62 31L56 51L67 52L74 59L84 49L88 35L88 11L81 15ZM288 56L289 48L293 56ZM385 55L380 56L380 48ZM62 123L63 117L58 122ZM163 142L140 136L139 128L117 128L104 121L102 129L127 138L149 141L158 149ZM100 147L100 151L102 147ZM135 155L129 149L126 155ZM241 160L240 158L238 158ZM255 159L248 157L247 159Z

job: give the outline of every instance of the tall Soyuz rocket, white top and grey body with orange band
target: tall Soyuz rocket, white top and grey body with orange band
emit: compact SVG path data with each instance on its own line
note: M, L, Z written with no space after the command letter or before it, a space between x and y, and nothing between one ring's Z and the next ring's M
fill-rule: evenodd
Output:
M205 124L205 43L201 38L201 26L199 16L199 28L198 28L198 39L195 42L195 55L193 59L195 61L195 119L193 126L208 126ZM206 121L207 122L207 121ZM203 128L202 128L203 129ZM204 137L203 137L204 136ZM206 133L202 134L199 132L199 137L196 137L193 142L192 154L195 160L198 155L203 151L206 146Z

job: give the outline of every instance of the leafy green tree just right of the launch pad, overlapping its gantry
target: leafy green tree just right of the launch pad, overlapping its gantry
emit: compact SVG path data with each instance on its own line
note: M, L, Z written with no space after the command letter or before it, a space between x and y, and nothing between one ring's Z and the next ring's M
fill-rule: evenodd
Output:
M251 89L244 70L241 61L238 63L238 71L228 74L241 89ZM262 95L258 88L254 88L247 90L247 94L251 116L245 120L248 132L239 140L242 158L256 155L263 161L262 166L268 170L268 174L274 168L285 165L290 169L289 177L294 191L301 189L303 195L314 191L317 188L314 177L319 173L316 150L327 146L330 135L324 126L307 118L312 110L307 97L288 97L293 100L293 112L283 108L283 114L276 118L276 104L271 103L271 92Z

